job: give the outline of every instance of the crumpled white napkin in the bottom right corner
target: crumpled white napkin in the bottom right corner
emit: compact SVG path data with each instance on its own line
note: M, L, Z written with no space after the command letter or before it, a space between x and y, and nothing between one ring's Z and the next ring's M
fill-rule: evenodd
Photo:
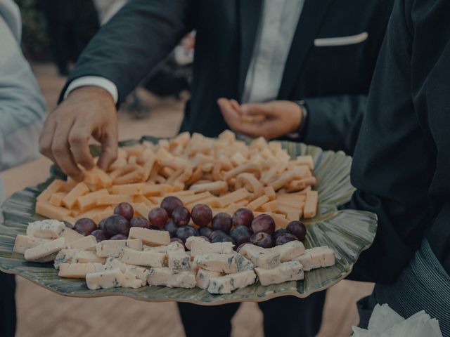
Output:
M442 337L437 319L420 311L404 319L389 305L375 305L368 329L353 326L352 337Z

